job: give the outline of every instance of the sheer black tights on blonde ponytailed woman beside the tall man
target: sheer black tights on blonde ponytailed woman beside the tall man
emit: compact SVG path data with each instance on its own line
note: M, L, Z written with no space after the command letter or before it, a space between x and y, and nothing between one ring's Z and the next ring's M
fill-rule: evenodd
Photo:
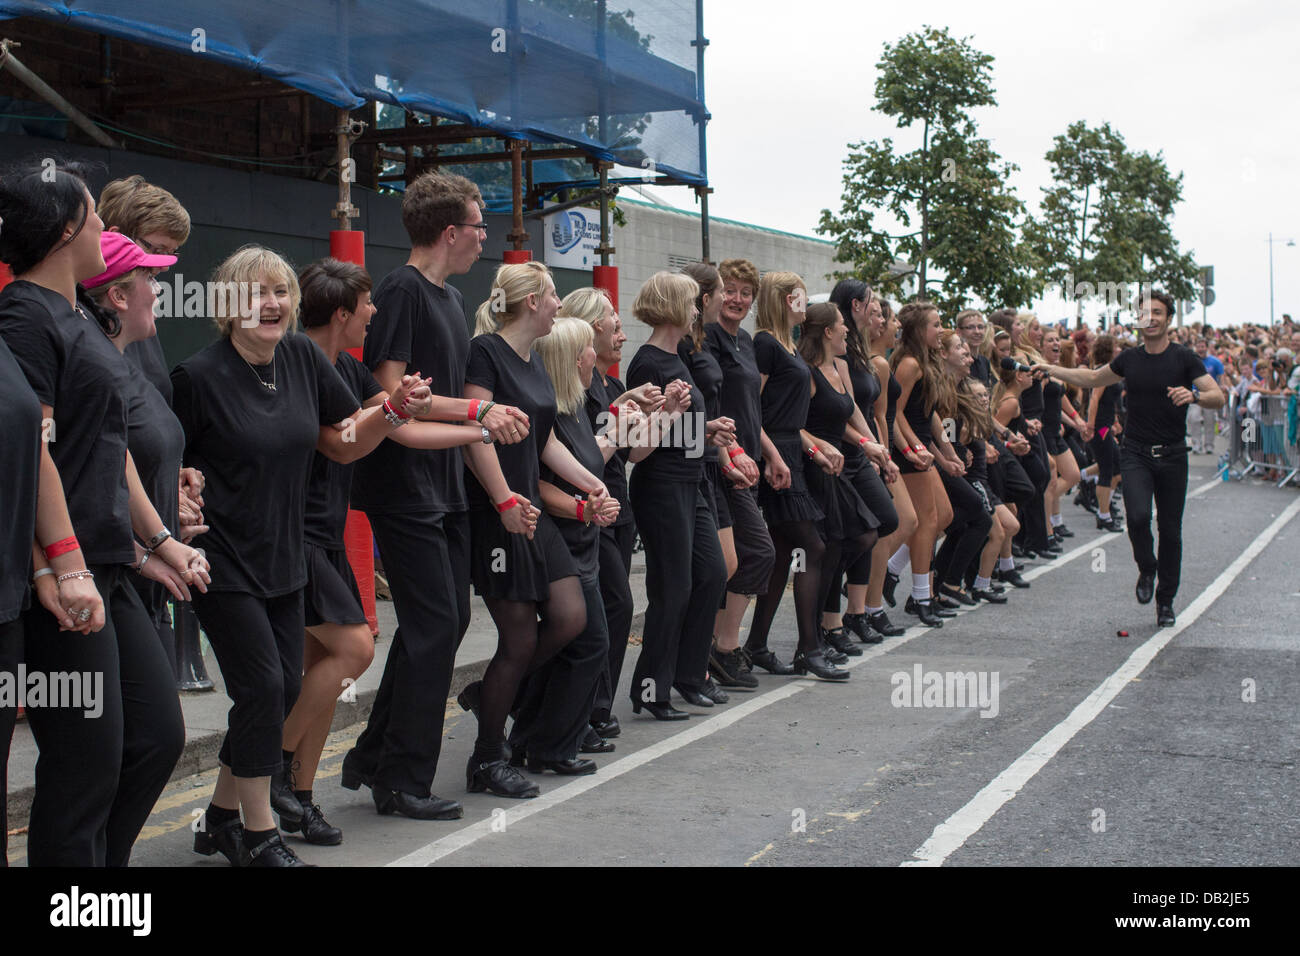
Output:
M484 671L474 753L500 758L506 718L524 678L550 661L586 627L586 601L577 578L551 581L541 602L484 598L497 624L497 653ZM541 620L538 620L538 617Z

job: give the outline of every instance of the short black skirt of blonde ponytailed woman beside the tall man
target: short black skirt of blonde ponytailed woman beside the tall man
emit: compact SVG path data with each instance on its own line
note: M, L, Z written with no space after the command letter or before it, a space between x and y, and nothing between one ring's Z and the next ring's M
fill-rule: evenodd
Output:
M532 541L506 531L495 510L469 511L469 578L480 597L546 601L551 581L576 576L573 555L545 511Z

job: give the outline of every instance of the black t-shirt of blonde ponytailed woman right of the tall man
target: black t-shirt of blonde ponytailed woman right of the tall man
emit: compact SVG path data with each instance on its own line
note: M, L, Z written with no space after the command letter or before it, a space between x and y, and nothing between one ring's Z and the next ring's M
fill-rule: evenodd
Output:
M529 351L529 359L524 362L510 342L497 333L474 336L469 343L465 384L488 389L491 401L512 405L528 415L528 437L514 445L497 445L497 460L500 462L500 472L510 490L519 492L534 507L541 507L537 494L538 459L555 427L555 386L546 373L542 356L537 351ZM495 509L477 481L472 480L468 485L472 507Z

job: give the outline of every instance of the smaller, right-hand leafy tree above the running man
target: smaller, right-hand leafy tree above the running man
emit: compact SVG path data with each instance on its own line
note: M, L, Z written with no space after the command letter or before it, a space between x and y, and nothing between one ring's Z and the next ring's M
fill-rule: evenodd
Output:
M1134 152L1109 124L1079 121L1054 138L1046 160L1054 185L1043 190L1024 237L1043 280L1076 302L1076 323L1086 300L1122 304L1140 284L1161 285L1176 299L1195 294L1195 258L1178 248L1170 228L1183 174L1170 173L1162 153Z

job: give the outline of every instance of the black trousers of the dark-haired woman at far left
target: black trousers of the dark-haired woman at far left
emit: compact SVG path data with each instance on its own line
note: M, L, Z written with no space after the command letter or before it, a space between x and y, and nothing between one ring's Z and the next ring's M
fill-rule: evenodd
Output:
M126 866L185 749L176 682L129 571L116 564L90 570L107 611L101 631L60 632L39 604L23 615L29 675L103 682L94 715L84 706L27 710L40 748L27 836L31 866Z

